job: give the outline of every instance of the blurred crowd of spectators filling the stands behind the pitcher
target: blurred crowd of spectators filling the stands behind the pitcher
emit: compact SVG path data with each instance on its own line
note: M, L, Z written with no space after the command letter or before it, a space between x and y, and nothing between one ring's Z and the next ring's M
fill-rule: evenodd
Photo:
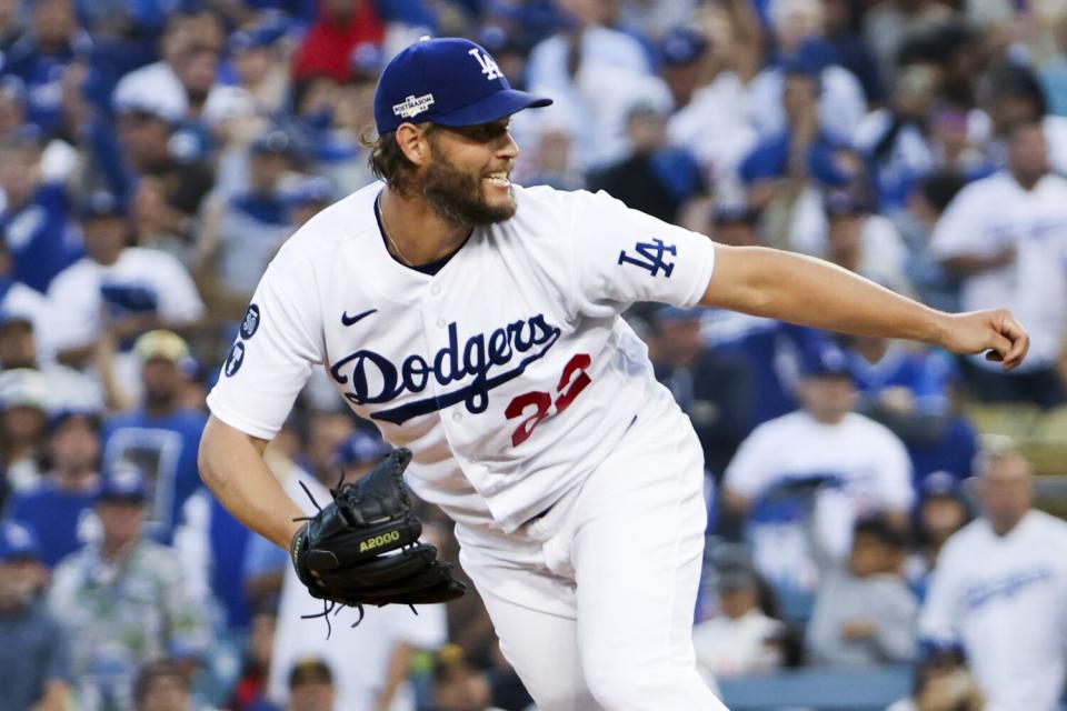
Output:
M0 0L0 710L530 705L477 593L302 619L322 608L286 551L197 472L259 276L373 180L378 73L423 34L555 99L512 121L520 184L1013 309L1033 347L1010 374L731 312L626 318L705 449L710 683L911 664L894 711L1057 708L1067 523L968 407L1067 399L1063 3ZM313 511L382 452L317 373L268 457Z

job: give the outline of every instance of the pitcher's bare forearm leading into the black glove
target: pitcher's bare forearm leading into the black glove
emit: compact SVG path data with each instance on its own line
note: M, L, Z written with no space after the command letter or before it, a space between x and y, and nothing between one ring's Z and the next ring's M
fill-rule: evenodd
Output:
M236 519L288 549L303 512L267 468L267 444L212 414L200 439L200 478Z

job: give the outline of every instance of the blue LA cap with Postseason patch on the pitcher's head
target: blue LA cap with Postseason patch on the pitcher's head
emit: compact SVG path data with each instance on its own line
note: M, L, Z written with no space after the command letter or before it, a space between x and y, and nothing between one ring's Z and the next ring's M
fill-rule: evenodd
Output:
M512 89L481 46L459 38L423 38L386 66L375 90L378 133L406 121L477 126L551 99Z

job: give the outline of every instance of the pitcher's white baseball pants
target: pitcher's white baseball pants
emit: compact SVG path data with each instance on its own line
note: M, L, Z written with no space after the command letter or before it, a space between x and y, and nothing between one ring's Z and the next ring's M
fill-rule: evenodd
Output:
M704 457L656 387L582 485L511 535L458 527L460 560L541 711L725 711L696 669Z

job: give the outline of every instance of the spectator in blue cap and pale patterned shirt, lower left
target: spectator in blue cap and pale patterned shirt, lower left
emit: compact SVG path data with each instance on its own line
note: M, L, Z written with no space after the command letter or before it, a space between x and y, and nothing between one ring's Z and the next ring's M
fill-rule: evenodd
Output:
M131 708L142 663L195 664L210 638L172 549L142 534L147 481L136 469L106 474L94 510L102 534L54 571L49 608L71 638L78 702Z

